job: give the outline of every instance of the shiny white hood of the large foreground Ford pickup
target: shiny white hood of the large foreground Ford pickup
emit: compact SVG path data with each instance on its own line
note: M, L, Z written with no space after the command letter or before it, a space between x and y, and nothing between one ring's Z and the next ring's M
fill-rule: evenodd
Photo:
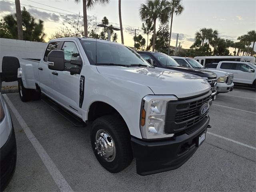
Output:
M148 86L154 94L185 98L210 90L210 84L206 80L174 70L122 66L97 66L97 70L115 79Z

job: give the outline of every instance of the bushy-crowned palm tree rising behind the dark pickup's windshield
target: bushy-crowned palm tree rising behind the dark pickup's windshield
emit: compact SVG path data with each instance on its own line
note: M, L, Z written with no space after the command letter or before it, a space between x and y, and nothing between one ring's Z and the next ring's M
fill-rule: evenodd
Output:
M154 22L153 25L153 48L155 51L156 44L156 20L161 18L163 10L167 7L166 0L147 0L146 4L140 5L140 18L142 21L150 19Z

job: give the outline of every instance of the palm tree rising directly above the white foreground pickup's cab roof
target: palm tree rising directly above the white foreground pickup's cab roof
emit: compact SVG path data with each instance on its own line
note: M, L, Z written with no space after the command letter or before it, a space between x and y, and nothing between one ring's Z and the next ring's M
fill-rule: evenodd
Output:
M81 0L75 0L76 3L80 3ZM84 14L84 36L88 37L88 23L87 23L87 8L92 9L96 3L102 5L108 4L109 0L82 0L83 1L83 14Z

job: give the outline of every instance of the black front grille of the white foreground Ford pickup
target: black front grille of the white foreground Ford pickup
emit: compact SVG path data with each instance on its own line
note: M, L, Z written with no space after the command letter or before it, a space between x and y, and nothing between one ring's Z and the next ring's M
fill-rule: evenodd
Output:
M200 114L200 108L210 100L211 92L208 92L196 98L168 102L165 132L179 133L198 124L208 114L208 110Z

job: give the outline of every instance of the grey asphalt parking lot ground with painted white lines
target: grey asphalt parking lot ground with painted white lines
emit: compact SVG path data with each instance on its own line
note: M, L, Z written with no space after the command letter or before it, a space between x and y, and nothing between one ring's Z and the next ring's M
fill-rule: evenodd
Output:
M210 108L212 128L194 156L176 170L149 176L136 174L134 160L111 174L92 152L90 126L74 126L42 100L24 103L18 93L4 97L18 150L6 191L256 191L253 90L219 94Z

